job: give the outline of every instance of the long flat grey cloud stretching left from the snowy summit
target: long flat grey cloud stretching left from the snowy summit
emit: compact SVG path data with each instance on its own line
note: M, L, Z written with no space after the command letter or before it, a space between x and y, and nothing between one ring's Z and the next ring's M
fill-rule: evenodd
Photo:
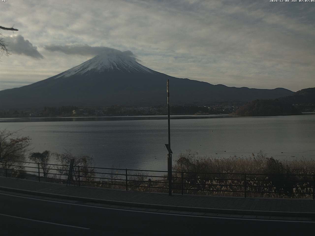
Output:
M107 54L112 56L119 56L126 59L136 60L135 54L131 51L120 51L115 48L108 47L91 47L87 44L67 44L67 45L46 45L44 47L46 50L51 52L62 52L68 55L98 55L98 54Z

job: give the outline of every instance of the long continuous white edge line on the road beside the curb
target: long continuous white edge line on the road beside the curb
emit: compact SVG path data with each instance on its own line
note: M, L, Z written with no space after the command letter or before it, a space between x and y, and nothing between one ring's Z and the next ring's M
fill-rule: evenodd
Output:
M53 201L53 200L46 200L46 199L38 199L38 198L32 198L32 197L23 197L23 196L14 195L14 194L4 194L4 193L1 193L1 192L0 192L0 195L8 195L8 196L14 196L14 197L18 197L18 198L27 198L27 199L34 199L34 200L45 201L45 202L55 202L55 203L60 203L60 204L77 205L77 206L83 206L83 207L93 207L93 208L101 208L101 209L109 209L109 210L117 210L117 211L142 212L142 213L158 214L158 215L187 216L187 217L228 219L228 220L246 220L246 221L273 221L273 222L315 223L315 221L264 220L264 219L250 219L250 218L236 218L236 217L220 217L220 216L181 215L181 214L172 214L172 213L165 213L165 212L136 211L136 210L128 210L128 209L119 209L119 208L103 207L103 206L82 205L82 204L76 204L76 203L60 202L60 201ZM117 207L119 207L119 206L117 205Z

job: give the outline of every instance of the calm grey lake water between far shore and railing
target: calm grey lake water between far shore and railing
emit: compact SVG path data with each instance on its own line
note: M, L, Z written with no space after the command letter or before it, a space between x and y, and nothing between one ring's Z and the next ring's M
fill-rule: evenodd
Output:
M166 116L0 119L0 129L32 138L32 151L91 155L95 166L167 170ZM200 155L315 159L315 115L172 116L173 161L186 149Z

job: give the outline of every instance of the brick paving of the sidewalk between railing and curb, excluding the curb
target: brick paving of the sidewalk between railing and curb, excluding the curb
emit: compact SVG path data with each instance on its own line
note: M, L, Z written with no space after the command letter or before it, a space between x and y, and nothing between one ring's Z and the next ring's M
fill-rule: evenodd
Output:
M315 213L315 200L312 199L214 197L185 194L173 194L172 196L169 196L168 194L163 193L134 192L83 186L77 187L73 185L66 186L65 184L36 182L5 177L0 177L0 186L51 194L154 205Z

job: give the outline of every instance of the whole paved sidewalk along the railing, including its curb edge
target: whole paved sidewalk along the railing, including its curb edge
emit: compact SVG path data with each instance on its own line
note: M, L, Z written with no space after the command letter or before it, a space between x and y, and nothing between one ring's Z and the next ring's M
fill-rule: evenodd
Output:
M248 215L291 215L315 216L315 200L312 199L267 199L267 198L240 198L240 197L213 197L198 195L163 193L147 193L123 191L107 188L66 186L65 184L36 182L24 179L0 177L0 190L14 192L21 189L35 191L35 195L49 196L59 194L60 198L83 201L100 202L113 205L132 205L146 208L159 208L170 210L201 211L221 213L241 213ZM41 194L40 194L41 193ZM62 195L62 196L61 196ZM56 195L50 195L58 197ZM97 201L99 200L99 201ZM106 202L107 201L107 202ZM172 208L173 207L173 208ZM191 210L189 209L191 208ZM245 213L244 213L245 212Z

